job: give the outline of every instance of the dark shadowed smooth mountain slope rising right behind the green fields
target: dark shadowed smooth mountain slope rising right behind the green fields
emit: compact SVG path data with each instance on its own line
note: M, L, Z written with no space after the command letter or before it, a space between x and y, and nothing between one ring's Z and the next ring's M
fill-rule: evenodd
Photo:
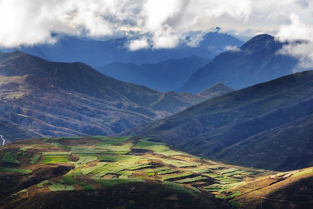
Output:
M271 170L313 165L313 71L214 97L121 135Z

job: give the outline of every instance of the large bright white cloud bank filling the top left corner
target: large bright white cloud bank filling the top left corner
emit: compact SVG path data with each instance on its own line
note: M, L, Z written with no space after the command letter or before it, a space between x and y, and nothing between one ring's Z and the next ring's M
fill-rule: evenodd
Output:
M0 0L0 46L55 43L51 33L102 37L136 25L140 5L122 0Z

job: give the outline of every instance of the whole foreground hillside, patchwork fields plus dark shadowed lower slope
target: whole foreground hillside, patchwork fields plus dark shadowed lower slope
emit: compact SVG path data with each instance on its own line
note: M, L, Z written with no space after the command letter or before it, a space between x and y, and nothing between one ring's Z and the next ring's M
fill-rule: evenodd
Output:
M303 209L312 203L313 168L278 173L233 166L148 138L32 138L0 146L0 159L3 209L256 209L267 201L272 206L264 208Z

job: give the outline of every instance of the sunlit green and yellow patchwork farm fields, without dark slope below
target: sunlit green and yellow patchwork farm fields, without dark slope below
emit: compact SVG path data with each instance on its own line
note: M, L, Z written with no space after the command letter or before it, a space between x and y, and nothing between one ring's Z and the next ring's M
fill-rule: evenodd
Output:
M161 142L135 137L20 140L1 147L0 159L0 178L6 179L0 182L1 208L6 208L5 205L11 208L25 198L30 201L47 192L91 195L90 192L113 192L123 186L127 189L122 191L128 192L124 195L137 200L125 200L120 208L143 208L136 202L143 195L142 189L148 186L154 188L150 193L167 203L189 199L201 200L199 205L202 201L218 205L218 201L229 200L231 206L237 205L233 199L251 191L292 176L297 179L312 175L312 168L279 173L217 163L179 152Z

